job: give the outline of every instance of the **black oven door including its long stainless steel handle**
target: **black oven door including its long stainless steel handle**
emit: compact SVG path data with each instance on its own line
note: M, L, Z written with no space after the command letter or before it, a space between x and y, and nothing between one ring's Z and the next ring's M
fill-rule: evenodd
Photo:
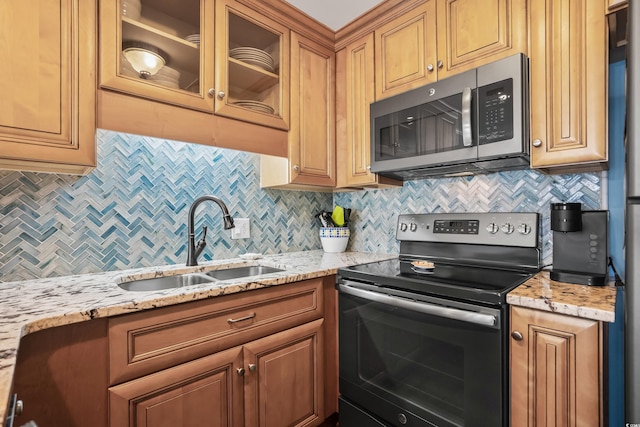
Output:
M337 288L340 393L371 425L506 425L499 309L345 279Z

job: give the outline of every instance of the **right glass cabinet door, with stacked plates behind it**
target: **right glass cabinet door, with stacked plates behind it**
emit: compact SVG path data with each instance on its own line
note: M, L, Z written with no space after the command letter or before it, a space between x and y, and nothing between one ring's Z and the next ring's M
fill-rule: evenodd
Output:
M289 30L237 2L216 3L215 113L289 128Z

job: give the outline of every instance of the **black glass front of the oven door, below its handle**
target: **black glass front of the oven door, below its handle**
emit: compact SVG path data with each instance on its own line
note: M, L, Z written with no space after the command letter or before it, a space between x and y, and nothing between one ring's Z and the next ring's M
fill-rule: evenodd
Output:
M436 425L503 425L500 331L340 295L340 387Z

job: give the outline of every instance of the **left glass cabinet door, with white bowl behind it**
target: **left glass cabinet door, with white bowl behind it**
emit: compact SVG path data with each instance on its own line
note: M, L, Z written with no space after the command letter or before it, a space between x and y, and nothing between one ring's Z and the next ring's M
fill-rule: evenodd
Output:
M213 111L213 0L100 2L104 88Z

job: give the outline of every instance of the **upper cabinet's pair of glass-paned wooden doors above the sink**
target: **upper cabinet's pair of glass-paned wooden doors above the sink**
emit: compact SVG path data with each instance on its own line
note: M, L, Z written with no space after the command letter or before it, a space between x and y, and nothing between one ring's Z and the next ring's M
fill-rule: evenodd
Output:
M288 29L219 0L100 2L100 85L288 129Z

